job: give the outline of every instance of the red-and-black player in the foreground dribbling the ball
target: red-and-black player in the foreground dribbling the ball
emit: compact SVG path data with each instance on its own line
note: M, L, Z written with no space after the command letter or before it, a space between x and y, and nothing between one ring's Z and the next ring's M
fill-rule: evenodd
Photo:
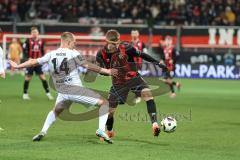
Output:
M148 54L134 48L131 43L121 42L120 34L116 30L109 30L106 33L106 45L98 51L96 61L101 67L118 69L118 76L112 77L112 87L108 98L110 114L106 126L109 137L113 136L113 113L118 104L124 104L126 102L128 93L131 90L139 92L142 99L146 101L154 136L158 136L160 133L160 128L157 123L156 105L151 90L138 73L134 57L141 57L160 67L165 67Z

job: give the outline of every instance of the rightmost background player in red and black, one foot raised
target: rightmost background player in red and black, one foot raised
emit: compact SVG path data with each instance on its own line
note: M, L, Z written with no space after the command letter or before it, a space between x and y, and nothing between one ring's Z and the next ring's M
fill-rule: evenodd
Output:
M173 81L175 64L177 60L177 51L173 46L173 40L171 36L166 36L164 42L162 42L162 53L161 53L161 64L165 64L167 67L167 72L164 75L164 81L170 87L171 94L170 97L176 97L174 86L180 89L181 84L179 82Z

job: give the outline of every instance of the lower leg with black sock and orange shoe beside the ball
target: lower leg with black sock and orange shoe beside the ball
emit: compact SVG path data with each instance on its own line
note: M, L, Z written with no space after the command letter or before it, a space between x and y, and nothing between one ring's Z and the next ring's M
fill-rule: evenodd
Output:
M154 99L152 97L152 93L149 88L144 88L141 91L142 98L147 103L147 110L148 114L150 116L151 122L152 122L152 131L154 136L158 136L160 133L160 127L157 123L157 110L156 110L156 104L154 102Z

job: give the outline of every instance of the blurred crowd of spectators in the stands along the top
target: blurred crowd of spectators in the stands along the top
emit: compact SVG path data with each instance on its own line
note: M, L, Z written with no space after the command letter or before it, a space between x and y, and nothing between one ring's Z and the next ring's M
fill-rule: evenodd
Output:
M81 18L159 25L240 25L240 0L0 0L0 21L80 22Z

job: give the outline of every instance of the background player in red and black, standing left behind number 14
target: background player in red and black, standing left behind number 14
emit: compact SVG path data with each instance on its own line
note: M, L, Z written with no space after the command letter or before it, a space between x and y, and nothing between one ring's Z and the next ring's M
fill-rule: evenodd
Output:
M31 28L31 35L32 37L27 39L23 44L23 54L25 59L36 59L44 55L44 42L42 39L39 38L39 31L37 27ZM48 99L52 100L53 97L49 92L49 86L46 81L46 77L42 71L41 65L35 66L35 67L29 67L26 69L25 81L24 81L24 87L23 87L23 99L24 100L30 99L28 95L28 87L34 72L39 76L40 80L42 81L42 85Z

